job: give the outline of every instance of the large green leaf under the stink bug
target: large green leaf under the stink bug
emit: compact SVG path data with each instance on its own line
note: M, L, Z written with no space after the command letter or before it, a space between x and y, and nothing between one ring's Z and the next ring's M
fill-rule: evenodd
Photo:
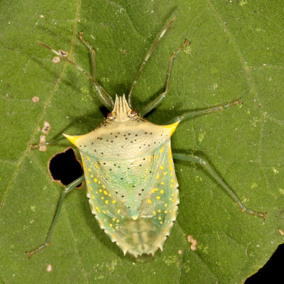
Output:
M243 283L283 243L283 1L4 1L0 9L0 185L2 283ZM45 121L47 140L87 133L106 109L92 84L36 43L66 50L90 72L84 36L97 52L97 80L114 97L127 94L151 45L177 19L148 60L133 92L141 109L165 85L175 61L170 94L147 116L156 124L188 110L241 97L244 105L183 121L173 151L205 158L250 209L241 213L201 167L175 164L180 184L177 222L163 252L123 256L99 229L85 190L67 196L52 244L43 244L62 186L48 160L70 146L31 150ZM39 97L33 102L33 97ZM197 240L190 249L187 236ZM48 271L47 268L52 268Z

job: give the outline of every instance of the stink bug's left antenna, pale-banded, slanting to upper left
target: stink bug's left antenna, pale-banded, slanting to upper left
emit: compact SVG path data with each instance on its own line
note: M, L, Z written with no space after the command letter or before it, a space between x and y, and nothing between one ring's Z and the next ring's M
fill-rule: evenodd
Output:
M43 45L44 48L47 48L48 50L50 50L51 52L55 53L56 55L58 55L60 58L62 58L63 60L67 61L68 63L70 63L71 65L73 65L74 67L77 68L77 70L80 70L84 75L86 75L89 80L92 80L93 82L93 86L94 89L98 92L99 97L102 99L102 102L104 103L104 105L107 107L107 109L109 109L110 111L112 111L112 109L114 108L114 102L111 99L111 97L109 96L109 94L107 93L107 91L96 81L93 79L93 77L91 75L89 75L84 69L82 69L82 67L80 67L79 65L77 65L75 62L72 62L71 60L67 59L65 57L65 53L62 50L56 51L53 48L50 48L50 46L46 45L45 43L41 43L40 41L38 41L38 43L40 45ZM107 94L107 97L110 98L108 101L104 100L104 96L103 94Z

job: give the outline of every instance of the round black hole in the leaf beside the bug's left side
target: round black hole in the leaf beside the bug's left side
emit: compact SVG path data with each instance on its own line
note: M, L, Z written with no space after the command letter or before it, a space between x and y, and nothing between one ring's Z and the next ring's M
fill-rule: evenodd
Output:
M65 186L83 174L82 166L72 148L54 155L48 163L48 169L53 180ZM81 186L82 184L77 185L77 187Z

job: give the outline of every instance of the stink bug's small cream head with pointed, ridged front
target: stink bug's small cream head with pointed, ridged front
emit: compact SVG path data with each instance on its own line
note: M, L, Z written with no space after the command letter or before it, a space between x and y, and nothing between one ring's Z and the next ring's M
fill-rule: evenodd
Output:
M125 95L123 97L119 97L116 94L114 109L107 115L107 119L120 122L131 120L136 116L138 116L137 111L129 107Z

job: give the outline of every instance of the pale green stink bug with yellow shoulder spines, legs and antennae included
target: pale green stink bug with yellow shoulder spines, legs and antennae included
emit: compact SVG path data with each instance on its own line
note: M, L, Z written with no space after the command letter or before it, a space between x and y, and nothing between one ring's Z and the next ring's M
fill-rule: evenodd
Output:
M129 92L128 101L125 96L118 97L116 95L115 102L113 102L107 91L98 84L94 76L95 52L89 42L84 40L82 33L79 34L80 40L87 46L92 58L92 76L68 60L60 51L57 52L48 45L40 43L87 75L92 80L99 98L111 112L102 121L102 124L90 133L82 136L63 134L79 148L84 176L67 185L62 192L58 211L45 243L28 252L29 257L50 244L50 237L65 195L84 180L87 185L89 204L99 226L104 229L111 241L116 242L124 254L128 252L137 257L143 253L154 255L158 249L162 250L178 213L178 180L175 175L173 159L200 163L211 173L219 185L224 187L224 190L229 193L242 212L265 218L266 213L246 209L239 198L202 158L175 154L170 148L170 136L180 121L236 106L241 104L240 99L218 107L175 117L162 126L152 124L143 118L167 96L173 62L180 51L189 44L187 40L170 56L165 91L141 111L137 112L131 108L131 94L136 81L155 46L174 20L175 18L168 23L143 60Z

